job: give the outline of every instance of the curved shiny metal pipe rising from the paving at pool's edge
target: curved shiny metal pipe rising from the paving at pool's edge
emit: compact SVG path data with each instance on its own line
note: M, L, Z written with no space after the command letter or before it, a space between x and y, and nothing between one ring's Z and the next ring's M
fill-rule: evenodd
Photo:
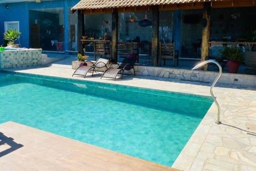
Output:
M218 103L217 100L216 100L217 97L215 97L214 93L212 92L212 89L214 88L214 86L216 85L216 83L217 83L217 82L219 81L219 79L221 78L221 75L222 75L222 67L221 67L221 65L219 64L219 62L217 62L217 61L215 61L215 60L207 60L207 61L204 61L204 62L199 63L198 65L196 65L196 66L195 66L194 68L192 68L191 70L197 69L197 68L199 68L199 67L201 67L201 66L203 66L203 65L205 65L205 64L207 64L207 63L214 63L214 64L216 64L216 65L219 67L219 74L218 74L217 78L215 79L214 83L212 83L212 85L210 86L210 94L211 94L212 99L214 99L214 102L215 102L215 104L216 104L216 106L217 106L217 108L218 108L218 117L217 117L216 123L217 123L217 124L221 124L221 121L220 121L220 113L221 113L220 105L219 105L219 103Z

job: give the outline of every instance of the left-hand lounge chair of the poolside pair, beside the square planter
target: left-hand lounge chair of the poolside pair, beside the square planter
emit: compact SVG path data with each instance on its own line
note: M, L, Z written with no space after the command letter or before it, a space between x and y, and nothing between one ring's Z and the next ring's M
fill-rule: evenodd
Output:
M83 76L84 78L86 78L86 75L89 71L92 71L94 73L94 71L96 71L96 68L106 68L108 69L108 67L106 66L107 63L109 63L109 59L104 59L104 58L98 58L97 61L95 63L93 63L92 61L84 61L81 66L79 66L74 74L72 75L72 77L74 75L78 75L78 76ZM93 76L92 73L92 76Z

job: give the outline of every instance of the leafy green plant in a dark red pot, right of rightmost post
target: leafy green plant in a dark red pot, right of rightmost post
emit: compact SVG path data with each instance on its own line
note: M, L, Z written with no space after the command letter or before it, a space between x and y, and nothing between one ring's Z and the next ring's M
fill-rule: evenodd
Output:
M240 63L243 62L243 54L238 47L225 47L221 51L222 57L228 59L227 69L230 73L237 73Z

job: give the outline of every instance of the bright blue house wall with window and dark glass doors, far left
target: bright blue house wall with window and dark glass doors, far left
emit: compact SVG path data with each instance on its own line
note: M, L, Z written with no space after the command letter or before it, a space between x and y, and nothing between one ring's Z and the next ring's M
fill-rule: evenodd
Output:
M77 50L77 15L71 12L79 0L0 0L0 44L3 34L13 28L22 32L22 47L44 51Z

